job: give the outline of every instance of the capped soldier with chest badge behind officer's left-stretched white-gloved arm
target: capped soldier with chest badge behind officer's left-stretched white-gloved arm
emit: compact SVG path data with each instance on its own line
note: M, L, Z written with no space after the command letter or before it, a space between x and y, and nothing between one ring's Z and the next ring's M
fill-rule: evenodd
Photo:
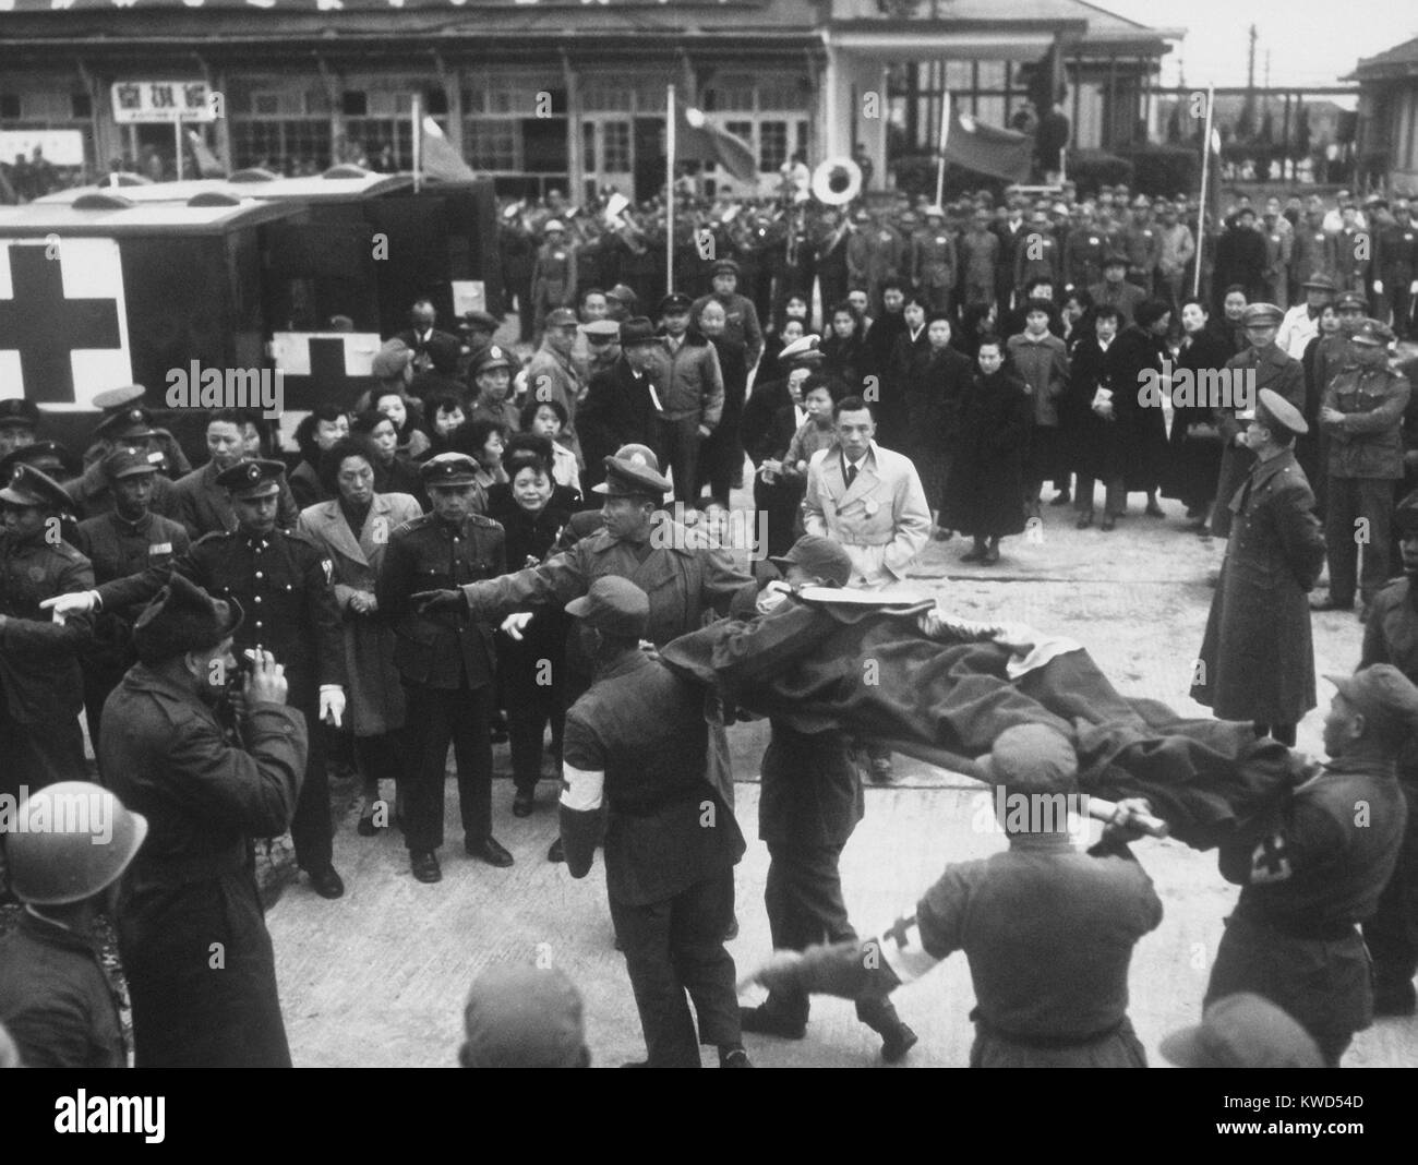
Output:
M78 548L94 565L95 584L128 578L147 567L166 567L187 553L187 531L180 522L153 513L153 485L159 454L113 449L102 471L113 495L113 509L79 523ZM109 608L94 621L94 642L84 653L84 714L89 740L98 740L99 713L108 693L138 662L133 655L133 619L142 607L128 611Z

